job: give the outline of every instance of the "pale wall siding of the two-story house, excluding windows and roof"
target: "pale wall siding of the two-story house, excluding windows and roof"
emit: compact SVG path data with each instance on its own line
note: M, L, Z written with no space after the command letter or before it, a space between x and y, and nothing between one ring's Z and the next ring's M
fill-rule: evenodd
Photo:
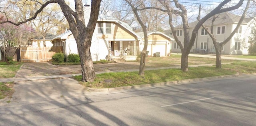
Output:
M250 28L251 28L251 23L242 24L242 33L241 34L235 34L232 39L224 45L224 49L222 50L221 54L248 54L248 48L249 48L249 43L248 43L248 36L250 36ZM218 26L225 26L225 34L217 34L217 27ZM217 42L223 42L231 33L232 31L236 28L237 24L219 24L213 27L213 34L216 37ZM209 27L208 27L209 28ZM190 36L192 34L193 28L189 29ZM173 37L173 36L171 36ZM184 42L184 34L182 33L182 36L177 36L178 39L182 42ZM200 42L207 42L207 53L210 54L215 54L215 48L214 44L212 42L212 39L210 38L209 35L201 35L201 28L198 30L198 36L194 42L194 46L190 50L190 52L193 52L193 49L200 49ZM240 50L235 50L235 42L241 42L240 45ZM174 44L173 44L174 45ZM178 52L180 53L180 49L174 49L174 46L172 46L172 52Z

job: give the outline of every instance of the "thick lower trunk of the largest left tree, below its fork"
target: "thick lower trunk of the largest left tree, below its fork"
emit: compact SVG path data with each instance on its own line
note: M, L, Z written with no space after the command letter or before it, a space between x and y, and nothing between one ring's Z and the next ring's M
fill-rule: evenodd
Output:
M80 42L77 43L84 43L88 40L86 37ZM92 56L90 52L90 48L86 46L86 44L82 44L82 46L78 46L78 52L80 56L80 62L82 67L82 82L93 82L96 78L94 66L92 62Z

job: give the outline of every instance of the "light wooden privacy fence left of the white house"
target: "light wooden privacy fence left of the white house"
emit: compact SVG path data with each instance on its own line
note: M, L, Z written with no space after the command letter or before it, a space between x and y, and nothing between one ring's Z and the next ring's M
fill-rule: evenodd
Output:
M57 52L63 52L62 46L20 47L21 62L48 62Z

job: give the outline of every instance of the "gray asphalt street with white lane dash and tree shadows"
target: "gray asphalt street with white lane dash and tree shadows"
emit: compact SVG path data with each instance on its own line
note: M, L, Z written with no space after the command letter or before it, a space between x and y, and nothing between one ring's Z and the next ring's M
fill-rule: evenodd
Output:
M0 126L16 125L255 126L256 75L0 106Z

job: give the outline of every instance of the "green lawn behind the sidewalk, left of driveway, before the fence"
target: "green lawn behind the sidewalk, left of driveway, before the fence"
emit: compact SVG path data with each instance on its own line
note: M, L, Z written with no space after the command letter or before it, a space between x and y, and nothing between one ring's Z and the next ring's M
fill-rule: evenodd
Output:
M14 77L22 64L23 64L22 62L14 62L14 64L7 64L6 62L0 62L0 78Z

